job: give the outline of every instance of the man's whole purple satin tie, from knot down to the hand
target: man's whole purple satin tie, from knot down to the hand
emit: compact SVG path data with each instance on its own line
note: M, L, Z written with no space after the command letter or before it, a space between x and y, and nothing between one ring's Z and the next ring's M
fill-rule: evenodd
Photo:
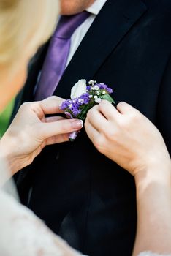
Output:
M61 16L42 67L42 74L35 94L36 100L50 97L55 91L66 67L72 34L88 18L88 15L90 13L85 11L77 15Z

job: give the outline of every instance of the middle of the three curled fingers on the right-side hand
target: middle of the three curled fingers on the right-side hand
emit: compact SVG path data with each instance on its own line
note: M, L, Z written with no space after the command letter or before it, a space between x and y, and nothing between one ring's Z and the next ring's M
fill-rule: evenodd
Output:
M99 111L99 105L96 105L88 111L87 118L91 126L93 126L98 132L100 132L101 129L105 129L107 120Z

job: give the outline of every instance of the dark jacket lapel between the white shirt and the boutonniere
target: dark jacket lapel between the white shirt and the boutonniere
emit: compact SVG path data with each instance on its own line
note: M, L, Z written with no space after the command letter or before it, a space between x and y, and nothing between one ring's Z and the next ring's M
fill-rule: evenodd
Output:
M141 0L107 0L58 83L55 95L69 98L81 78L90 80L147 7Z

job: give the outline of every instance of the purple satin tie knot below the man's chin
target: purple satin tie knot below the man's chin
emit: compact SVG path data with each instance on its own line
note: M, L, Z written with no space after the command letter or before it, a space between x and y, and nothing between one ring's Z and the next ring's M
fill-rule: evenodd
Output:
M61 15L58 21L54 37L61 37L64 39L72 37L72 34L90 15L89 12L80 12L76 15Z

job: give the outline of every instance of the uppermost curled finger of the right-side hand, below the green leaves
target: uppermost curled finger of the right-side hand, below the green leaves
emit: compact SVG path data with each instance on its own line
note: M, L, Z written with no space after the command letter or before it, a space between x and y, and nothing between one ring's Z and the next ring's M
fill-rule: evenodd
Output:
M102 100L102 102L99 103L99 110L107 120L119 118L120 116L118 110L107 100Z

